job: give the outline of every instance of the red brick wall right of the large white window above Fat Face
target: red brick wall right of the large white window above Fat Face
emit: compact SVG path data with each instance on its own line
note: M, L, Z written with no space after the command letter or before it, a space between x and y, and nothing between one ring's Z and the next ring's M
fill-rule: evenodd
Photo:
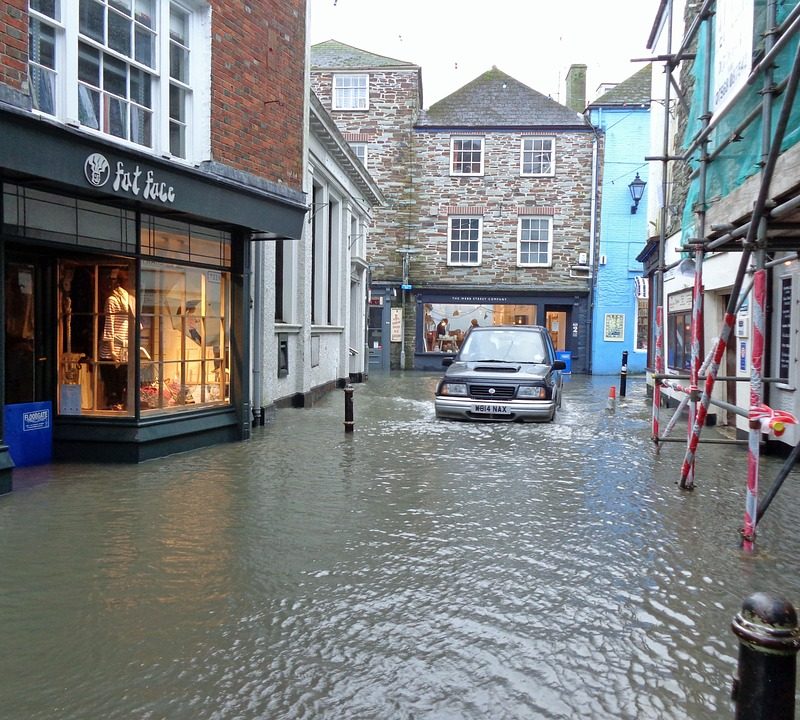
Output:
M214 0L212 159L302 184L304 0Z

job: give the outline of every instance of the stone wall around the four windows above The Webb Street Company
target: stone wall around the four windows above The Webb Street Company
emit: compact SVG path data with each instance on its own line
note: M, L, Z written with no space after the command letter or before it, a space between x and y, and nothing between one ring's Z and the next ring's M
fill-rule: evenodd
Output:
M570 276L579 253L590 249L592 196L592 133L555 135L553 177L522 177L521 135L487 132L485 174L450 176L447 132L416 134L415 175L420 227L416 239L423 252L412 261L415 282L428 284L534 286L537 290L586 289L586 280ZM448 267L448 217L472 208L483 217L482 261L477 267ZM553 218L551 267L517 267L520 216Z

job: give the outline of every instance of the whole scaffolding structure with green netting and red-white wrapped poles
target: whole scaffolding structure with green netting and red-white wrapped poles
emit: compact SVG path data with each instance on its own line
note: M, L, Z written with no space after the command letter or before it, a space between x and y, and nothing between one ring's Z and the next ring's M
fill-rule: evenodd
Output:
M664 136L662 154L647 160L661 163L661 208L658 232L658 260L653 279L654 347L653 358L653 415L652 439L658 451L662 443L684 441L669 436L679 414L688 416L685 438L686 452L680 469L680 488L691 490L695 482L695 459L710 405L726 412L747 418L747 440L718 439L713 442L747 443L747 485L744 526L741 531L742 546L753 550L756 527L769 503L792 465L800 456L800 442L786 458L767 496L759 507L759 460L766 433L780 436L788 424L796 423L791 413L773 410L765 402L765 384L779 378L765 376L765 338L770 332L767 310L768 271L774 265L792 257L798 258L800 249L800 171L790 178L781 177L781 188L775 189L776 166L781 154L788 148L800 146L800 109L796 94L800 79L800 6L797 1L766 0L765 7L757 3L756 32L761 38L752 70L747 82L733 94L721 109L712 106L712 70L714 59L717 0L704 0L694 8L689 18L675 18L676 0L662 2L666 52L648 62L663 62L665 67ZM682 3L681 3L682 5ZM680 22L685 28L680 46L673 52L673 29ZM681 83L679 80L685 82ZM682 88L693 84L691 97ZM683 147L674 153L670 147L673 137L670 123L672 94L686 118ZM676 163L678 165L676 165ZM679 262L666 265L671 179L675 168L688 172L686 199L681 222L680 251L686 266L692 264L694 282L691 306L691 346L688 375L667 373L667 343L665 334L665 274ZM749 189L757 187L755 198L750 198L750 209L741 212L736 203L724 200L741 190L745 183ZM709 208L717 203L715 224L708 223ZM731 213L721 218L720 208ZM722 327L705 358L703 346L703 266L709 254L737 253L738 268L730 283L727 306ZM726 356L733 335L737 314L744 303L751 308L751 341L749 345L750 376L724 377L720 365ZM680 383L688 380L688 385ZM749 382L749 404L726 402L712 397L714 384ZM659 413L663 405L663 391L669 388L681 400L675 414L662 430ZM769 393L767 393L768 395ZM734 392L734 396L736 393ZM734 397L734 400L736 398Z

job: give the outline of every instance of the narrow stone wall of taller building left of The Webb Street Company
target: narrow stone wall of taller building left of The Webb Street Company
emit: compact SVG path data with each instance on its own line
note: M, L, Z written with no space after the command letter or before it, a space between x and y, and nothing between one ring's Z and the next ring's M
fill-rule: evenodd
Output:
M420 88L416 68L369 73L369 109L331 110L333 74L312 72L311 87L339 130L359 135L368 144L367 170L386 198L374 209L373 230L367 247L376 265L373 279L398 281L402 261L396 248L414 241L417 227L412 180L414 174L412 127L419 110Z

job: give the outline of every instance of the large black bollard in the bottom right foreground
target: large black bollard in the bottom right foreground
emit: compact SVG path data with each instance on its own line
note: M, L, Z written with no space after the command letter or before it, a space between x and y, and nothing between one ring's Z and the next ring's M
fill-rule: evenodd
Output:
M739 638L739 665L731 697L736 720L794 720L800 631L791 603L754 593L731 623Z

